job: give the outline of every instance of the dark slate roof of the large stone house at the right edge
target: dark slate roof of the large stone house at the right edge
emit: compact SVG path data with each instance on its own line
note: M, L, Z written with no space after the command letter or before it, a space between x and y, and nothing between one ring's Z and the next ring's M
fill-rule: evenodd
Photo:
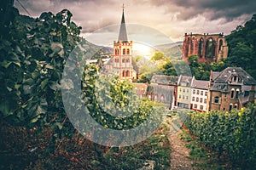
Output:
M213 72L212 72L213 73ZM255 85L256 81L241 67L228 67L221 71L218 75L215 73L214 79L212 74L212 80L216 83L230 83L232 77L237 76L241 78L241 83L244 85Z

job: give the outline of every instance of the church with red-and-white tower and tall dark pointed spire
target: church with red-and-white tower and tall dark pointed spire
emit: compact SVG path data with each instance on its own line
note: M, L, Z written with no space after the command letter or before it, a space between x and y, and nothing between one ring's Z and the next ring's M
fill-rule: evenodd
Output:
M118 41L113 42L113 57L104 65L104 73L116 75L120 80L132 81L138 78L138 67L132 59L132 41L128 41L127 37L124 7Z

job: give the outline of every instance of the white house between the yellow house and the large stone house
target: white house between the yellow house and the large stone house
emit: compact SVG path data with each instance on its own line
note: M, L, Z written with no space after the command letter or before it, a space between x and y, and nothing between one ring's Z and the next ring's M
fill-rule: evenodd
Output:
M191 105L195 111L207 111L209 81L194 80L191 86Z

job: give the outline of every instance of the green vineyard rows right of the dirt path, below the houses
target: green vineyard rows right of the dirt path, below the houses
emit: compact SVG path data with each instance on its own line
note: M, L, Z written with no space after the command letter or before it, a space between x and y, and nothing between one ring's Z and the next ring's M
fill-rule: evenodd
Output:
M189 132L230 167L256 167L256 106L241 111L189 112Z

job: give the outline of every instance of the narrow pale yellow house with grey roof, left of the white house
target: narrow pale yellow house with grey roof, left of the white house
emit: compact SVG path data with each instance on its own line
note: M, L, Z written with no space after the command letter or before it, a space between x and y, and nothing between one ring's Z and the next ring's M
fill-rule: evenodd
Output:
M190 109L191 85L195 77L180 76L177 81L177 107Z

